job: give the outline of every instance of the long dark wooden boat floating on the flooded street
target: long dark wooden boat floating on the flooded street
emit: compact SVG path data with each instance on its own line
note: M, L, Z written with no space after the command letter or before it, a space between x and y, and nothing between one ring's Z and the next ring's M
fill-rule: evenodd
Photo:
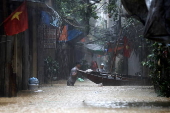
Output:
M151 85L148 77L100 73L95 71L86 72L82 70L78 70L78 72L96 84L102 83L103 86Z

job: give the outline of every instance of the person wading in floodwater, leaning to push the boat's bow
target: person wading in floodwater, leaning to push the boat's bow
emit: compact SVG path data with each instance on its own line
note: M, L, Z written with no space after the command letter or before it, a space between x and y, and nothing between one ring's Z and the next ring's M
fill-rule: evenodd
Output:
M80 62L76 62L75 67L71 69L70 76L68 77L67 80L67 86L74 86L76 80L77 80L77 70L81 67Z

